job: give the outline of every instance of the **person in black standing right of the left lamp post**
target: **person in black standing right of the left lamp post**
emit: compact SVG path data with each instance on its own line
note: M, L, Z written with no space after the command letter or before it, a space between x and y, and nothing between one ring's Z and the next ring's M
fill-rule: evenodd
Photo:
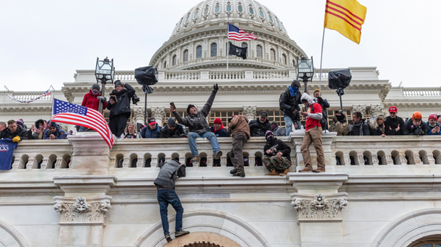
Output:
M130 116L130 99L134 93L133 87L129 84L124 84L119 79L115 81L115 90L110 93L110 100L107 102L107 110L110 110L110 131L115 136L124 133Z

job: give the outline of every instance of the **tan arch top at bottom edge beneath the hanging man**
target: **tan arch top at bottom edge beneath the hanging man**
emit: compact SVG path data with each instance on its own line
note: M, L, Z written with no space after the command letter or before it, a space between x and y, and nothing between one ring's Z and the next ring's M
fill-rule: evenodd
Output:
M164 247L240 247L240 245L219 234L196 232L175 238Z

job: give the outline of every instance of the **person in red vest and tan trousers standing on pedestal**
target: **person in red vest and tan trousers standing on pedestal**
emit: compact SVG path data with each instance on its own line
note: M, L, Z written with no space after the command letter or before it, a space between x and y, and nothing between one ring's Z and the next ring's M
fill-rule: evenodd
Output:
M306 117L304 125L304 136L302 141L302 156L304 161L304 169L299 172L325 172L324 168L324 150L322 147L322 106L314 103L307 93L302 94L302 104L307 106L309 112L300 113ZM314 143L314 149L317 153L317 169L312 169L311 155L309 155L309 146Z

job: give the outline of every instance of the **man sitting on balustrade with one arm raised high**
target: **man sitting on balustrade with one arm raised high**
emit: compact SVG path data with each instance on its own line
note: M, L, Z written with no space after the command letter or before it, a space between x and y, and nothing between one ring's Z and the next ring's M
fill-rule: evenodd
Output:
M216 138L216 135L210 131L210 126L208 126L206 119L211 110L218 89L218 84L213 85L210 97L208 97L208 100L201 111L198 111L193 104L189 104L187 107L188 116L184 118L179 115L178 111L176 111L173 106L170 106L170 111L173 112L178 123L184 124L184 126L187 126L190 131L190 133L188 133L188 145L190 146L191 154L193 155L193 159L191 160L193 164L198 163L201 160L196 146L196 138L207 138L211 142L213 157L215 160L218 160L222 156L218 139Z

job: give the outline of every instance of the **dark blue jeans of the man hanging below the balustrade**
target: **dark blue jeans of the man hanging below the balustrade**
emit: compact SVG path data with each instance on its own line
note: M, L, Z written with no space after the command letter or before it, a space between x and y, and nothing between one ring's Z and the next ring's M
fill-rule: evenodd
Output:
M169 232L169 217L167 216L169 204L176 210L176 226L175 231L181 231L182 229L182 214L184 214L184 208L178 195L173 189L158 190L156 198L159 202L159 211L161 212L162 229L164 230L164 236L170 234Z

